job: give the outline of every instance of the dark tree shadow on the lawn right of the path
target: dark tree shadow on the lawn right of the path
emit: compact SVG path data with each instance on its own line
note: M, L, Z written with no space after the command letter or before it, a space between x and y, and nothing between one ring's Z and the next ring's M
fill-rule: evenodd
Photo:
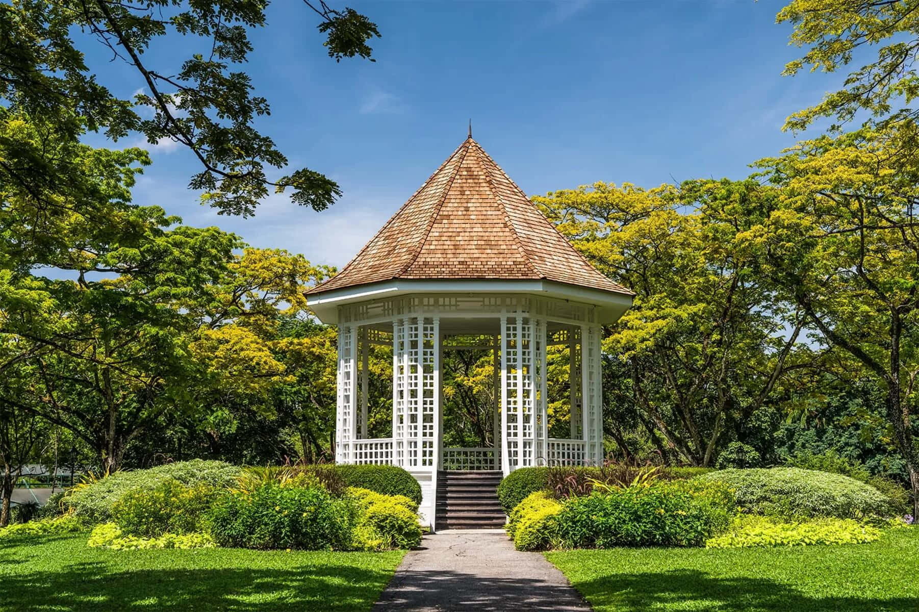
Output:
M714 578L698 570L613 575L577 584L577 588L594 606L635 612L666 609L713 612L919 610L919 598L914 597L816 597L764 578Z

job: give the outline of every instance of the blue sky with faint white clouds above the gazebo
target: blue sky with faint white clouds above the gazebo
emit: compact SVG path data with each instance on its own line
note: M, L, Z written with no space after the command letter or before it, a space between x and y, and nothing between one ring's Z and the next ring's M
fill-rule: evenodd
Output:
M272 107L259 128L292 167L334 178L344 197L321 213L272 197L254 218L219 216L186 188L191 155L164 145L135 201L343 266L463 141L470 118L473 137L528 194L741 178L794 142L784 118L837 80L780 75L800 54L789 26L775 23L783 4L354 2L382 33L377 62L335 63L312 12L275 0L245 68ZM154 48L148 65L175 69L193 51L177 43ZM142 86L101 51L89 62L118 95Z

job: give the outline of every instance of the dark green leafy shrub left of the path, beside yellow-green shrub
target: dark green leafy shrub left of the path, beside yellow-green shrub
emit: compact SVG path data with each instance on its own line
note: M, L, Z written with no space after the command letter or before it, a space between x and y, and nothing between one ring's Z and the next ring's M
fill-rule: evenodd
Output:
M252 493L225 493L210 510L210 534L223 546L247 549L346 549L357 504L321 487L266 483Z

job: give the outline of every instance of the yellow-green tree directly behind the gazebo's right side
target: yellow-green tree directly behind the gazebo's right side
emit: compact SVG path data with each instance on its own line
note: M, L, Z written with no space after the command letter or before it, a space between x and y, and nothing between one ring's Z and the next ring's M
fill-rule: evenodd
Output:
M604 339L604 352L626 364L605 394L670 460L712 464L791 367L802 323L783 336L783 306L739 240L737 202L756 187L596 183L534 198L598 269L637 293ZM625 442L626 432L613 433Z

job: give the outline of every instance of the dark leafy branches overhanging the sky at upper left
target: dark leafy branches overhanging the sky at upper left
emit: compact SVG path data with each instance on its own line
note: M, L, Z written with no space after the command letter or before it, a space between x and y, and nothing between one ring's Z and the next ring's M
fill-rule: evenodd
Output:
M319 17L317 28L335 61L370 58L369 40L380 32L353 9L335 10L324 1L304 2ZM255 130L255 119L270 112L253 93L251 80L233 66L252 51L247 31L266 25L267 2L210 3L185 0L17 0L0 5L0 99L7 109L46 125L57 137L75 142L84 129L104 130L111 139L141 133L149 142L178 142L195 155L200 170L189 187L221 212L251 215L269 187L292 189L299 204L323 210L341 191L335 181L301 168L271 178L266 168L282 168L287 158L270 138ZM199 44L180 66L154 66L148 51L183 37ZM132 100L113 96L84 62L84 49L101 45L112 59L127 63L142 80L144 93ZM373 60L371 60L373 61ZM152 110L145 117L143 109ZM9 143L15 147L17 142ZM28 189L67 189L79 182L79 167L64 158L60 167L0 169L0 182Z

